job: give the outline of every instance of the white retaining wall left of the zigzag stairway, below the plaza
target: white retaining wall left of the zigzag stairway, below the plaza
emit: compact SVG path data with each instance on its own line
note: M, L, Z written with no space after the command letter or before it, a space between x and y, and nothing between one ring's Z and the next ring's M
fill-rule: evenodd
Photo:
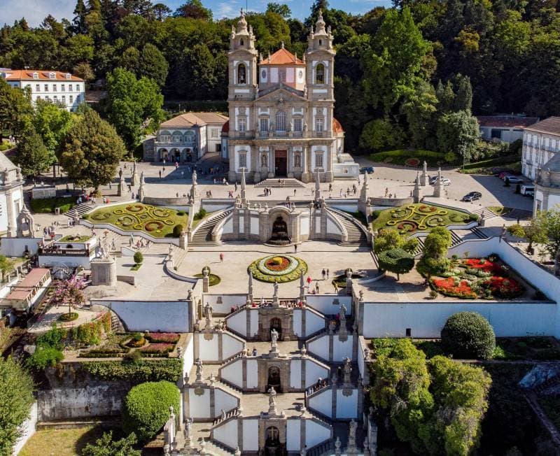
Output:
M109 307L129 331L188 332L188 301L134 301L92 299L92 304Z

